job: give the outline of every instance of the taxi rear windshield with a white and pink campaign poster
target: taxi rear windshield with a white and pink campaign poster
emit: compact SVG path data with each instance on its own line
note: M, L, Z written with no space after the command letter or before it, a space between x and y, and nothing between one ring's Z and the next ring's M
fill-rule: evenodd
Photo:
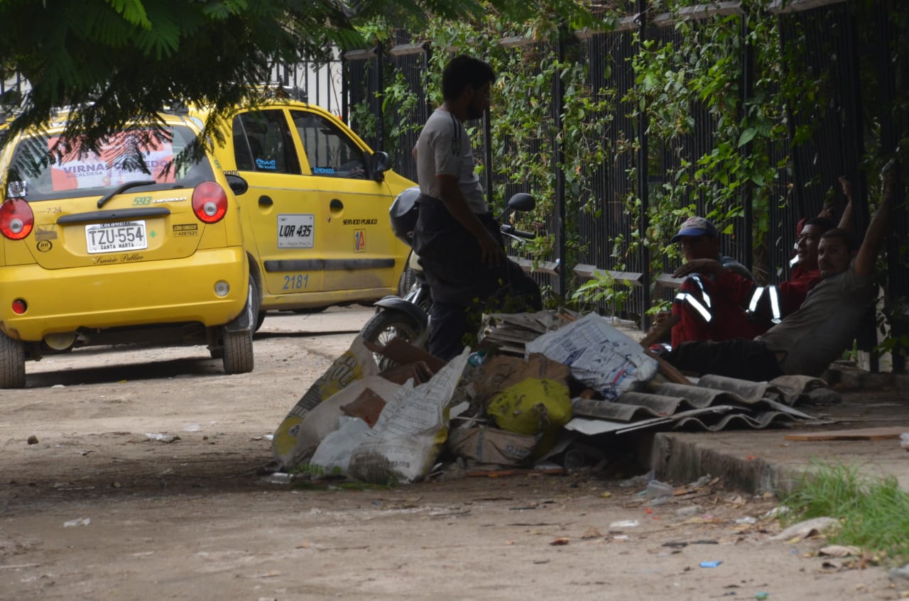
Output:
M214 179L205 153L195 149L195 133L184 125L131 128L94 150L66 146L53 135L25 138L10 164L6 197L35 202L104 196L125 183L153 180L132 192L193 188Z

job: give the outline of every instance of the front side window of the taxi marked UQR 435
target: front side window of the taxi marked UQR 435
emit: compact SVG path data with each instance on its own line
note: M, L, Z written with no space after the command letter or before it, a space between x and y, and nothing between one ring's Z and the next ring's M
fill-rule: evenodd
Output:
M291 111L313 175L365 179L365 153L341 129L322 115Z

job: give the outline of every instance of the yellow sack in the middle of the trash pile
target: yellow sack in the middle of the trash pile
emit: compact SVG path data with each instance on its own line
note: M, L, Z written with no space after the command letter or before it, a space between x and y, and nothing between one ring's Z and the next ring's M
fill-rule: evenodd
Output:
M490 397L486 413L507 432L549 434L571 419L571 396L564 382L528 378Z

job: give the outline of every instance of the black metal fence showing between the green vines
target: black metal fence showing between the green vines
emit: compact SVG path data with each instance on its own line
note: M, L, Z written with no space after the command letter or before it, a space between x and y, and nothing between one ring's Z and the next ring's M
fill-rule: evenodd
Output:
M731 6L736 3L719 3L718 10L725 11L725 15L738 14L746 18L740 6ZM859 44L856 33L858 19L856 11L861 7L854 2L837 0L813 0L799 2L791 0L788 3L777 3L775 18L779 19L781 31L781 44L790 50L791 64L788 68L796 72L817 76L824 85L822 91L828 99L825 110L821 113L799 113L794 107L787 107L788 125L790 127L789 140L777 143L775 147L765 151L770 154L774 164L790 165L781 167L776 173L773 183L774 195L783 199L783 202L771 202L769 214L754 215L751 212L751 202L747 189L742 193L743 216L733 220L733 232L724 236L723 251L745 265L755 267L760 277L773 283L784 280L788 275L788 261L792 256L794 241L797 237L796 224L803 217L811 217L820 212L825 202L841 198L837 178L845 175L853 182L855 229L863 232L867 222L867 200L873 190L871 182L865 182L864 173L872 165L862 163L867 155L865 148L868 143L869 133L874 131L874 143L880 145L874 149L876 155L892 154L896 147L896 123L894 116L888 110L893 102L894 70L889 60L894 52L894 25L887 18L886 2L879 3L880 10L874 15L863 14L862 26L874 27L874 44ZM725 6L730 5L730 6ZM738 13L736 13L738 11ZM703 15L692 15L692 18L708 18L709 11L702 9ZM663 25L669 25L668 19L663 19ZM634 44L634 33L637 32L658 44L674 43L681 40L679 34L671 26L661 26L661 19L656 17L649 24L640 27L640 21L631 17L624 19L617 30L608 33L578 34L579 40L575 43L581 45L579 60L585 61L589 66L590 81L587 82L592 89L608 88L614 90L615 97L624 98L625 94L634 89L634 73L630 57L638 52ZM741 45L745 49L739 58L742 71L740 99L744 105L747 94L751 92L751 80L754 78L753 54L749 54L747 44L743 38ZM419 127L425 122L430 107L426 103L426 69L429 53L433 49L428 44L410 44L406 38L399 39L393 48L384 49L376 47L366 51L345 53L345 84L346 103L353 106L366 103L375 113L375 122L383 123L385 127L358 128L358 123L353 123L360 133L375 132L367 142L374 147L384 148L393 153L395 169L405 176L415 179L415 165L410 154L410 149L415 143ZM445 50L437 50L445 52ZM605 68L608 65L608 69ZM605 74L608 74L608 78ZM406 86L417 94L419 102L402 112L395 107L385 107L378 92L383 89L384 82L390 78L400 77ZM879 89L869 91L867 82L874 82ZM554 82L554 89L558 83ZM873 98L868 98L873 96ZM554 113L558 113L558 98L554 101ZM635 230L642 225L641 215L628 213L624 202L629 192L637 192L643 197L644 209L646 208L647 191L658 190L664 184L664 173L667 170L675 171L681 166L680 162L686 159L689 163L696 163L698 157L710 153L714 148L715 123L714 117L706 107L692 106L691 114L694 118L694 128L681 138L673 141L660 139L647 139L643 124L629 116L633 112L621 102L616 103L612 115L611 126L605 133L604 143L615 147L619 140L638 139L644 153L619 153L603 164L596 165L589 181L585 186L592 191L592 197L584 199L584 203L593 206L594 212L582 212L576 216L577 238L583 241L578 262L593 265L600 270L617 270L633 272L640 278L633 283L639 284L632 287L630 298L624 303L623 312L627 317L640 318L644 311L653 304L651 294L656 299L667 299L669 291L659 286L660 274L651 272L648 268L650 258L645 250L627 251L616 249L616 240L629 241ZM384 131L388 131L389 120L394 122L395 130L399 132L395 140L383 140ZM807 140L793 143L792 138L800 125L812 125L811 136ZM488 141L486 152L481 154L488 158ZM784 158L789 157L785 162ZM694 171L695 167L691 167ZM628 173L636 169L638 173L646 173L646 186L637 188ZM493 172L489 170L488 172ZM494 183L494 182L493 182ZM514 191L509 191L514 192ZM557 190L564 194L564 189ZM704 209L707 199L690 199L699 209ZM902 201L901 198L898 201ZM556 207L564 207L564 198L556 202ZM842 208L842 203L840 204ZM550 232L564 241L566 233L558 230L559 215L553 215L547 220ZM754 232L755 220L768 222L766 240L755 245L751 232ZM645 222L644 222L645 226ZM892 224L895 235L891 238L891 248L888 253L887 277L887 303L893 306L898 300L903 300L909 295L909 271L906 270L905 260L898 252L898 241L905 240L909 230L909 220L904 212L898 212ZM560 247L556 245L556 249ZM554 261L558 251L551 257L543 257L544 261ZM669 257L663 258L663 271L671 272L677 266L677 260ZM564 269L570 270L573 266L565 265ZM558 293L564 294L564 274L559 277L549 274L539 274L544 283L553 287ZM655 285L654 285L655 283ZM604 307L604 310L614 310L614 307ZM894 320L892 323L894 333L904 333L903 320ZM872 326L860 339L861 348L870 349L874 343ZM898 359L897 359L898 361ZM900 368L900 366L896 366ZM901 368L900 368L901 369Z

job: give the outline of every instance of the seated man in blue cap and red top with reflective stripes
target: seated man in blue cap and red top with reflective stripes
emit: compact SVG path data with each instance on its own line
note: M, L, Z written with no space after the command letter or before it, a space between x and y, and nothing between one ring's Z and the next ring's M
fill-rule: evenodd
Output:
M713 261L724 269L754 281L751 272L731 257L720 254L719 232L704 217L691 217L682 224L673 238L680 242L685 265L698 261ZM680 272L674 273L679 277ZM757 333L744 309L734 300L717 293L713 278L696 269L684 271L688 278L682 282L673 301L672 315L678 320L672 329L673 348L686 340L731 340L753 338ZM663 318L665 319L665 317ZM657 323L661 319L658 317Z

